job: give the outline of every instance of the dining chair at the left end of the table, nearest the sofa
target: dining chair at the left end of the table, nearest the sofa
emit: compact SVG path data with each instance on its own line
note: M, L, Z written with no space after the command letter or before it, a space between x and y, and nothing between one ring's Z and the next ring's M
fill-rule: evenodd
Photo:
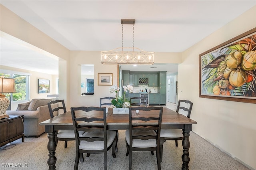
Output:
M55 103L57 103L58 105ZM62 106L59 106L59 103L61 103ZM51 118L58 116L61 110L63 110L63 113L67 112L64 100L53 100L48 102L47 104ZM67 148L68 140L75 140L74 130L58 130L57 140L65 141L64 147Z

